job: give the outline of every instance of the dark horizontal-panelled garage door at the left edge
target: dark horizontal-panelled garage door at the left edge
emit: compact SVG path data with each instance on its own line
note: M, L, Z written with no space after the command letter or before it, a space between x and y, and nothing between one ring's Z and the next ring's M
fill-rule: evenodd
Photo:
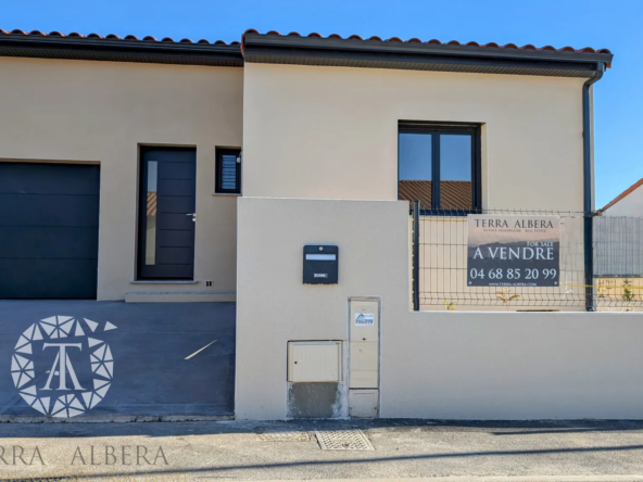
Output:
M0 163L0 299L96 299L100 167Z

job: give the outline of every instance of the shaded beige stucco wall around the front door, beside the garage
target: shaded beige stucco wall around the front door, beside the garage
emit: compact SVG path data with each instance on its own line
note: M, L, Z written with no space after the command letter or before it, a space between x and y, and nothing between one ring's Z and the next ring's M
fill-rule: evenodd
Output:
M212 193L215 145L242 144L242 68L2 58L0 72L0 160L101 165L99 300L234 299L237 200ZM130 284L139 144L197 148L196 286Z

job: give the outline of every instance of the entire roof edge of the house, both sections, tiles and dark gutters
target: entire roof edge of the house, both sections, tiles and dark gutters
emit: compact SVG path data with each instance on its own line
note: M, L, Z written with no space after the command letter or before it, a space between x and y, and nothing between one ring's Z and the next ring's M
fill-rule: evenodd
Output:
M261 62L585 78L594 75L598 64L609 67L613 60L609 50L590 47L423 42L417 38L382 40L337 34L323 37L317 33L304 37L297 31L280 35L275 30L262 35L254 29L247 30L241 42L229 45L220 40L211 43L169 37L157 40L151 36L139 39L133 35L121 38L114 34L102 37L0 29L0 55L234 67Z

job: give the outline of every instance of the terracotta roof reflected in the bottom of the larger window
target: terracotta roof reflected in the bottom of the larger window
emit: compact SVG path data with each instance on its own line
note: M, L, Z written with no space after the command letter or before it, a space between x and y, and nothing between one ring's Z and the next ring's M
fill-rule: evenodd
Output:
M420 208L431 207L432 181L402 180L399 182L398 198L419 201ZM441 210L470 210L474 205L471 182L440 182Z

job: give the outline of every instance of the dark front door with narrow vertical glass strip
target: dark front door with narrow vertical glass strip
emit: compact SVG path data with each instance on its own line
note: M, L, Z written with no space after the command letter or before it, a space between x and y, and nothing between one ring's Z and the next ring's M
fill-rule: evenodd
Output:
M197 151L141 150L138 278L194 276Z

